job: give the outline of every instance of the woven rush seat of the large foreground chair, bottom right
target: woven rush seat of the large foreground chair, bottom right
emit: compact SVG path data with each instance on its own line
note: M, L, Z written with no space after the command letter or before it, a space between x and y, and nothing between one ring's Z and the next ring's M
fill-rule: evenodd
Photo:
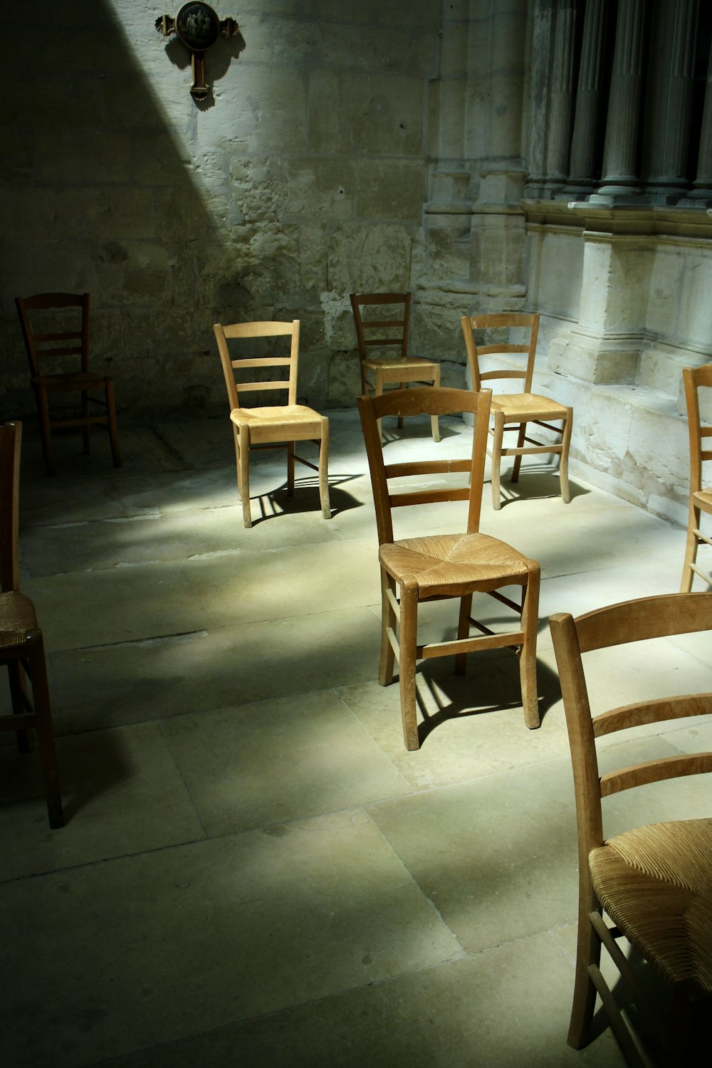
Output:
M601 905L655 971L712 993L712 819L627 831L588 863Z

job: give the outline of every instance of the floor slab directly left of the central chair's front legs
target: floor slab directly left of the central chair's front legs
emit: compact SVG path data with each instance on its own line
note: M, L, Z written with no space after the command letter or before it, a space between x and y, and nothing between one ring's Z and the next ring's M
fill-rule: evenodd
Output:
M333 691L181 716L163 728L208 835L410 794Z

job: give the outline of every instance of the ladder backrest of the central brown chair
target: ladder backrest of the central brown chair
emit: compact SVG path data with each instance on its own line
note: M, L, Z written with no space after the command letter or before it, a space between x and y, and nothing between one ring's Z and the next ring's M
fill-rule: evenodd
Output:
M410 504L432 504L438 501L469 501L469 534L479 530L479 511L482 498L482 477L487 452L487 428L490 415L490 390L474 393L472 390L452 390L434 386L390 390L380 396L358 398L363 427L370 481L376 506L379 545L393 541L392 509ZM469 459L444 459L439 452L433 459L410 460L404 464L385 464L378 420L384 415L450 415L469 413L474 419L472 456ZM442 447L438 446L439 450ZM466 473L461 485L441 481L439 486L423 487L424 475ZM391 478L416 477L421 486L400 486L391 489Z

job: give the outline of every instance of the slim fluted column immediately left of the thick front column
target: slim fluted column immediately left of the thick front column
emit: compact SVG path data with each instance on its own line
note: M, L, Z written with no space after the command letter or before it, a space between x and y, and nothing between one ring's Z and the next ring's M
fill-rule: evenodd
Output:
M603 28L608 0L588 0L581 44L576 110L573 119L567 192L587 193L596 185L599 107L603 66Z

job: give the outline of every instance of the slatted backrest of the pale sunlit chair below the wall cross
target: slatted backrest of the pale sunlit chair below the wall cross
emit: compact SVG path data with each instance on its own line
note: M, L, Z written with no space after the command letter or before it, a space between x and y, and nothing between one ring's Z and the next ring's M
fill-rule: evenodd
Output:
M286 404L297 404L297 372L299 366L299 319L291 323L233 323L223 326L216 323L212 327L218 342L218 351L222 363L231 411L240 408L241 393L256 393L278 390L287 393ZM231 355L227 342L249 341L264 337L289 337L289 352L282 356L244 356L235 358ZM241 347L241 346L240 346ZM285 346L286 347L286 346ZM254 349L253 349L254 351ZM270 368L281 368L279 378L265 378L264 372ZM255 377L254 372L259 375ZM240 381L236 377L242 372L251 372L249 379ZM286 374L286 377L284 377ZM256 379L259 380L256 380Z

